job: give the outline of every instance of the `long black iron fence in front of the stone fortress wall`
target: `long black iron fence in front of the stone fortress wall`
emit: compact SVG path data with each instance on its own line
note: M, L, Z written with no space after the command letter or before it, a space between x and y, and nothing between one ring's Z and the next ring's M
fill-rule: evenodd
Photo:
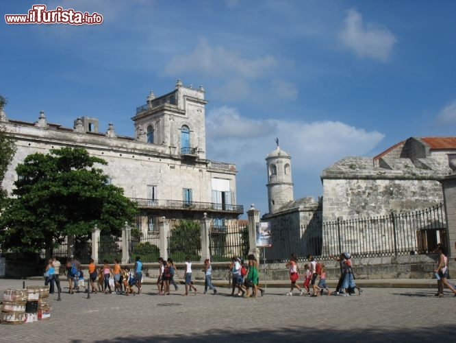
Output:
M308 255L329 259L341 252L353 257L429 254L438 243L446 245L443 204L410 213L335 220L320 227L273 227L273 246L266 261L287 261L292 253L304 261Z

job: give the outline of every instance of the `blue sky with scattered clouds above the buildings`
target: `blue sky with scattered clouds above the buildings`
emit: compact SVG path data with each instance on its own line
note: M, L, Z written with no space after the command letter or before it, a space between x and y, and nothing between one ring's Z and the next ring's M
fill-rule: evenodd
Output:
M27 14L34 1L1 1ZM294 198L320 196L322 169L408 137L454 136L456 2L40 1L97 12L101 25L1 24L0 94L12 119L73 127L82 115L133 136L147 94L206 90L207 157L236 163L238 204L268 211L275 137ZM3 19L2 19L3 20Z

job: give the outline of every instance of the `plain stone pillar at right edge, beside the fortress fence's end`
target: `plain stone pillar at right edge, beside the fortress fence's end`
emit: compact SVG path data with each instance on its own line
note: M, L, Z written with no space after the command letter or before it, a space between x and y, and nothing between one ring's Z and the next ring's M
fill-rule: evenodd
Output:
M456 174L451 174L440 180L442 184L445 214L446 214L446 239L448 241L448 257L456 257Z

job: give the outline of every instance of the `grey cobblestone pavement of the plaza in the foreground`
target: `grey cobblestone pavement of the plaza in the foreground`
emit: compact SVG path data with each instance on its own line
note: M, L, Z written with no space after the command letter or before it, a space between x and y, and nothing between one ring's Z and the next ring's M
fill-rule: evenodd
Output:
M25 281L25 285L39 285ZM21 288L0 279L0 292ZM270 288L260 298L170 296L144 285L136 296L51 294L51 318L0 325L0 342L451 342L456 297L435 289L366 288L361 296L286 296ZM295 291L296 292L296 291ZM297 294L297 292L295 293Z

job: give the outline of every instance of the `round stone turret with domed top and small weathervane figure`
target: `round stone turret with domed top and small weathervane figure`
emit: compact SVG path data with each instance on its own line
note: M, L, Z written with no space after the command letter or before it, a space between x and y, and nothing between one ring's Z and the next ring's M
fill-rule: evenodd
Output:
M291 157L279 147L266 157L268 169L268 204L269 213L277 212L281 206L293 200L293 182L291 175Z

